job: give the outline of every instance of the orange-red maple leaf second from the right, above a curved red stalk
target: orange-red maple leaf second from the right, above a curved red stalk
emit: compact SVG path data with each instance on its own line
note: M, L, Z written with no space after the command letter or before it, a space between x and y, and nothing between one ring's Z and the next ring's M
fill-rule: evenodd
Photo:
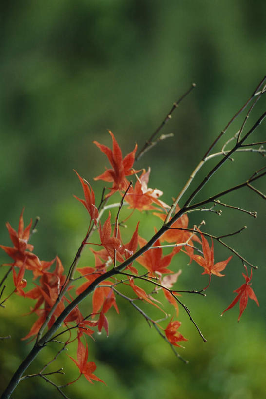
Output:
M201 239L202 239L202 251L204 257L194 254L190 256L192 257L192 259L194 259L194 261L196 261L200 266L204 268L204 272L202 274L209 274L209 275L215 274L218 277L223 277L224 274L221 274L220 271L224 270L228 262L232 259L232 256L230 256L225 261L217 262L214 264L213 240L211 239L212 245L210 248L208 241L202 234L201 234Z

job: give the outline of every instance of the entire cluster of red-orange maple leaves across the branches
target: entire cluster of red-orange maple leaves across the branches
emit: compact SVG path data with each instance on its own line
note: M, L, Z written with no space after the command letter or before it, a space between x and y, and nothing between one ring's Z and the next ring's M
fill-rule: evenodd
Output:
M112 183L112 186L109 188L110 192L105 196L103 203L106 204L110 197L118 192L123 197L122 201L127 204L128 209L140 212L156 211L153 215L164 222L170 207L159 199L163 194L161 190L148 188L151 169L148 168L147 171L145 169L140 171L133 169L137 145L132 152L123 158L114 134L110 132L110 135L112 137L113 150L99 144L97 141L94 142L100 151L107 156L111 165L110 169L106 169L104 173L94 179ZM107 313L112 307L119 313L116 303L117 287L119 284L131 290L131 294L134 296L136 295L136 298L126 297L131 303L136 300L144 301L148 304L152 304L160 311L163 311L161 309L161 303L159 303L159 306L159 301L155 300L153 296L154 292L157 293L161 291L163 298L174 307L176 316L178 316L177 296L181 294L178 293L177 289L173 289L173 285L177 283L181 271L174 273L174 271L176 271L175 264L173 263L174 257L182 250L189 256L190 263L195 261L204 268L202 274L209 275L209 284L202 289L203 291L209 287L211 275L217 277L224 276L224 274L221 274L221 271L228 265L232 256L227 260L214 263L213 241L211 247L209 247L209 243L202 231L195 228L191 232L191 230L188 229L188 215L183 214L171 224L171 229L166 230L161 237L154 242L153 247L143 251L143 253L135 259L136 263L134 266L133 262L127 262L127 266L122 269L126 275L123 282L115 277L115 273L113 277L104 279L104 275L107 271L112 269L116 270L115 268L117 268L117 266L119 267L119 264L123 264L123 262L130 259L139 249L145 247L147 245L147 240L139 234L138 222L132 237L127 243L124 243L121 228L118 223L118 216L114 222L114 228L112 228L112 215L110 212L105 221L102 222L101 218L103 217L103 212L100 212L100 208L97 208L95 205L95 194L91 185L88 181L84 180L77 171L75 172L81 183L84 199L76 196L75 198L84 205L90 216L88 233L81 247L83 248L90 244L90 250L95 259L94 266L90 265L76 269L80 274L80 278L82 278L82 284L79 286L70 284L72 269L69 273L65 274L64 267L58 256L52 261L41 261L38 256L33 253L34 248L28 243L31 236L32 221L24 228L24 209L19 218L18 231L15 231L9 223L6 224L13 247L6 247L3 245L0 247L13 260L12 263L7 264L11 267L13 272L15 286L13 292L19 296L30 298L35 301L30 313L35 313L38 318L23 340L37 336L42 326L46 325L44 323L47 320L47 327L49 329L55 323L57 317L64 311L65 307L72 302L74 295L78 296L82 294L95 280L101 279L100 283L96 285L93 291L91 313L84 317L78 306L76 306L64 319L64 328L66 329L65 332L68 333L67 344L77 340L77 360L72 357L71 359L79 369L80 374L78 378L84 375L89 382L92 382L92 380L104 382L95 376L96 365L94 362L88 362L88 344L86 342L86 345L84 345L81 340L84 340L86 335L93 338L95 331L102 332L103 329L108 335ZM140 172L141 174L138 175ZM133 175L136 176L135 185L131 184L127 179L128 176ZM178 210L179 208L176 206L175 212L178 212ZM89 243L87 241L91 233L97 236L99 243ZM164 252L163 243L166 243L168 253ZM100 246L101 249L96 250L95 246ZM75 262L80 256L80 253L81 252L78 252ZM140 267L137 267L136 264ZM171 265L173 265L173 269ZM141 267L143 268L144 275L139 274L139 268L141 269ZM16 270L18 270L18 272L16 272ZM25 273L27 274L27 278L31 278L30 273L32 273L32 279L36 281L34 283L35 287L27 292L25 292L27 285ZM252 271L249 277L246 268L246 275L243 274L243 276L245 278L245 284L241 285L241 287L235 291L237 292L237 297L228 308L224 310L224 312L229 310L240 301L239 318L247 305L248 298L253 299L258 304L254 291L250 287ZM136 284L138 279L151 282L155 285L155 288L153 286L153 290L146 292L144 288ZM73 290L75 290L75 294L73 294ZM125 294L122 295L125 297ZM159 324L159 322L153 321L152 319L151 321L156 325ZM160 326L164 331L166 340L173 346L180 346L177 342L187 341L187 339L177 331L180 326L180 321L172 319L167 324L166 328ZM75 331L74 337L73 331ZM76 380L78 380L78 378Z

